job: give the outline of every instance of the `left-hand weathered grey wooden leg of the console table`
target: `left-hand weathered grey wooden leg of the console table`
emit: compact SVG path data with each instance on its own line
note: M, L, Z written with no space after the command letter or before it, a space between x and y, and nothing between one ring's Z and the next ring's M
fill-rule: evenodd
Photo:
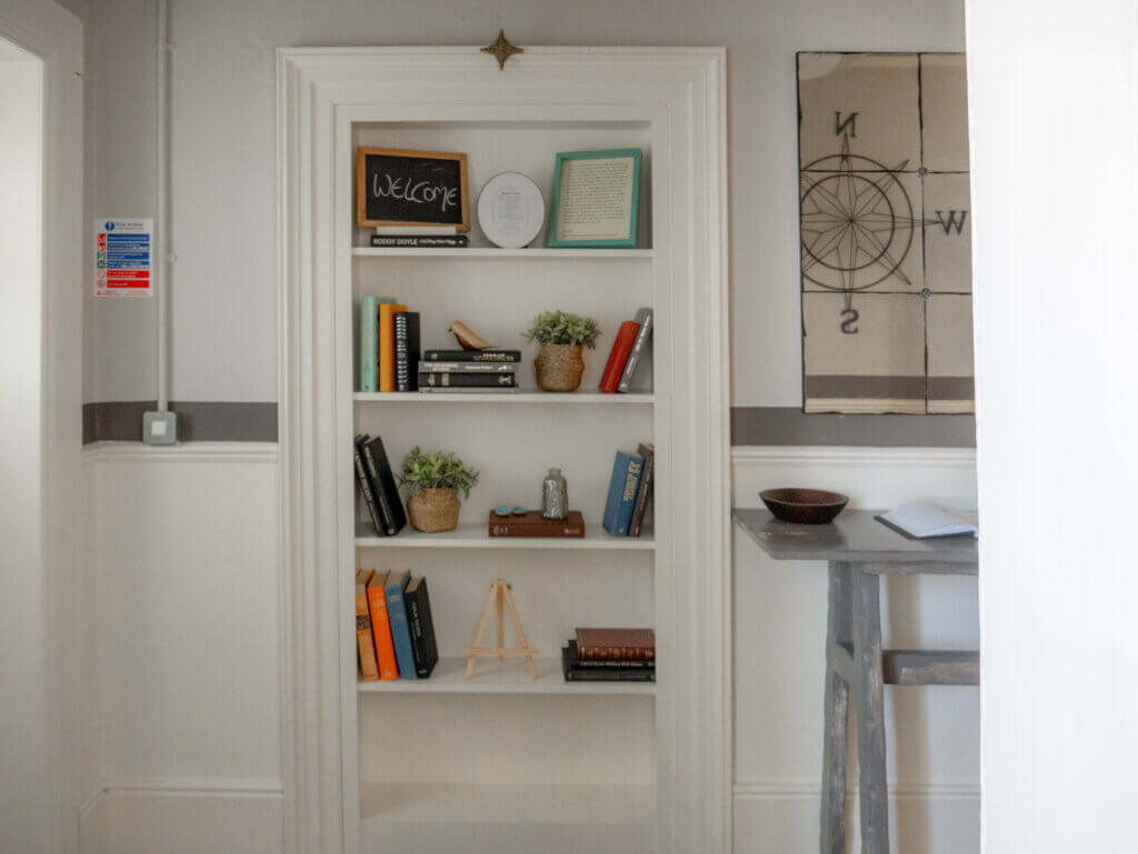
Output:
M849 564L830 564L826 648L849 642L851 633ZM826 656L825 732L822 747L822 854L846 854L846 756L850 687Z

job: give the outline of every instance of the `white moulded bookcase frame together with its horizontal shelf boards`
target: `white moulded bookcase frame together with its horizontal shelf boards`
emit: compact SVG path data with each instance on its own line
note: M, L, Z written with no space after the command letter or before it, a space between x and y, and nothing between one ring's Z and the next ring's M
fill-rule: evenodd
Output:
M351 132L363 122L641 122L652 141L652 248L470 248L415 251L415 263L477 265L525 258L558 264L651 265L658 335L654 389L625 396L503 396L494 404L574 409L651 406L659 476L655 530L638 541L589 529L577 541L497 542L480 525L398 546L452 549L636 549L654 567L658 682L525 682L513 673L436 681L393 693L642 695L654 706L652 787L555 787L569 803L624 798L654 823L655 851L726 854L731 847L729 440L725 55L721 49L534 48L504 72L477 48L283 49L279 100L279 347L282 500L282 689L286 851L364 844L360 821L357 700L391 686L356 683L351 619L355 525L351 441L358 407L473 407L478 395L361 396L352 390L352 282L358 265L407 258L352 244ZM475 191L475 188L471 188ZM436 260L437 259L437 260ZM404 264L407 262L403 262ZM347 378L347 380L346 380ZM607 398L607 399L601 399ZM485 407L481 407L485 409ZM465 411L464 411L465 412ZM527 409L528 412L528 409ZM597 411L597 415L609 412ZM617 411L613 411L613 415ZM585 416L585 413L582 413ZM380 545L368 541L363 545ZM643 559L643 558L642 558ZM337 567L336 572L327 571ZM525 614L522 615L525 619ZM453 662L452 662L453 663ZM496 664L496 663L495 663ZM453 670L453 668L451 668ZM450 673L450 675L447 675ZM528 677L526 677L528 679ZM613 702L634 702L616 699ZM459 714L459 712L455 712ZM385 790L389 783L371 789ZM435 787L435 789L431 788ZM432 783L439 804L476 787ZM465 788L464 788L465 786ZM509 787L505 787L509 788ZM517 788L517 787L516 787ZM632 789L637 789L632 791ZM552 791L552 790L551 790ZM457 793L457 794L455 794ZM610 797L611 796L611 797ZM646 803L650 806L645 806ZM654 798L654 805L651 805ZM547 803L547 802L546 802ZM457 809L457 807L456 807ZM582 807L584 809L584 806ZM645 818L646 816L646 818ZM414 815L414 821L429 816ZM551 821L555 816L551 816Z

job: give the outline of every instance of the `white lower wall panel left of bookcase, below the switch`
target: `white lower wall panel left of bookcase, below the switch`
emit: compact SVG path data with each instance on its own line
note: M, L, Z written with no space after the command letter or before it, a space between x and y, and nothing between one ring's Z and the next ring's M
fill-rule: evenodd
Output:
M106 774L84 854L279 853L277 446L83 456Z

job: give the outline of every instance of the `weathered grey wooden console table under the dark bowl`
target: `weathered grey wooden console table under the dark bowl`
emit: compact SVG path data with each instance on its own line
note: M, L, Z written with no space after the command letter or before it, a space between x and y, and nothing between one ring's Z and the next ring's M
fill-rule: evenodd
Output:
M959 537L910 540L877 522L872 511L846 511L826 525L780 522L765 509L736 509L732 515L772 557L830 564L820 852L846 852L846 754L852 688L861 851L888 854L883 688L979 685L980 655L956 649L882 649L881 575L975 575L976 541Z

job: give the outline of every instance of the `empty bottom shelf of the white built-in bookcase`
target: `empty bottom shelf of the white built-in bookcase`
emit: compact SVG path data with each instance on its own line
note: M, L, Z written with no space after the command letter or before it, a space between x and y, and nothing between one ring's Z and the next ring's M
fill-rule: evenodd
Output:
M601 783L363 782L365 824L643 824L655 814L653 787Z

